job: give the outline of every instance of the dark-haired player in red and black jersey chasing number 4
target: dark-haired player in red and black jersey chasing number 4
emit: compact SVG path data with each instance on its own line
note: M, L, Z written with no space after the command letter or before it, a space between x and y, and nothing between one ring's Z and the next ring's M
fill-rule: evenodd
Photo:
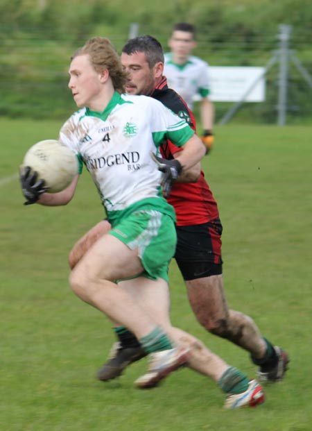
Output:
M162 46L154 37L140 36L129 40L123 47L121 62L129 76L126 92L154 97L196 128L193 113L187 104L174 90L168 88L163 76ZM180 150L171 142L166 142L162 155L166 159L173 159L177 151ZM189 180L187 177L179 179ZM209 332L248 350L252 362L259 366L258 376L261 380L281 380L287 369L288 355L262 337L249 316L229 310L227 306L222 276L222 225L204 173L201 171L196 182L178 180L174 183L168 202L173 205L177 215L175 260L184 278L196 318ZM101 222L98 226L101 226ZM101 227L90 232L73 248L69 257L71 267L96 236L101 236ZM117 328L116 335L119 346L98 372L98 378L103 381L121 375L128 364L143 356L131 332Z

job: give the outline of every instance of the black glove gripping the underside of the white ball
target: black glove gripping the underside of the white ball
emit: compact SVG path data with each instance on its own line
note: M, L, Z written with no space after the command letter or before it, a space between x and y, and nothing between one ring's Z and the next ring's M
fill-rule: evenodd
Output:
M24 205L37 202L40 194L49 189L49 187L46 187L44 180L38 180L37 172L32 171L29 166L24 167L19 172L19 180L21 181L21 191L27 199Z

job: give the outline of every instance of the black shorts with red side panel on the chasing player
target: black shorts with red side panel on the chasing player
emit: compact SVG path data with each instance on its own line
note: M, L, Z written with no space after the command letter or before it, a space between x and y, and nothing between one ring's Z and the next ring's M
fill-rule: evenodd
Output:
M176 230L175 260L185 281L222 274L220 219Z

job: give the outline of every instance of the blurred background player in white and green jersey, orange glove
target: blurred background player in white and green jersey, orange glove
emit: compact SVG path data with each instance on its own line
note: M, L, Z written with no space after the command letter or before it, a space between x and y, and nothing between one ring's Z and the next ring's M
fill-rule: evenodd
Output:
M196 96L200 97L200 117L202 121L202 142L207 153L214 144L212 128L214 126L214 105L209 100L208 64L191 52L196 47L196 30L192 24L180 22L173 26L168 40L171 52L164 55L164 75L168 86L173 88L191 110Z

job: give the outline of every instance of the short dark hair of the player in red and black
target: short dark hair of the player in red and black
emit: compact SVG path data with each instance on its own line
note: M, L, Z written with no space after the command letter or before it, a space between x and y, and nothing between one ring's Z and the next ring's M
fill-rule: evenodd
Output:
M150 69L158 62L164 62L164 51L162 45L155 37L143 35L128 40L122 52L130 56L136 52L143 52L146 56Z

